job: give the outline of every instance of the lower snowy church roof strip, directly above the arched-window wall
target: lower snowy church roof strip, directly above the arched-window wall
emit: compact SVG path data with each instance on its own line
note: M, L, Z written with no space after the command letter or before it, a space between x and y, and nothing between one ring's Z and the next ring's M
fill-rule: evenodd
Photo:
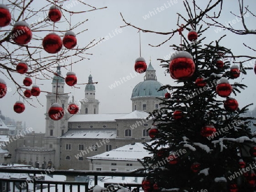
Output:
M60 138L81 138L81 139L115 139L117 131L115 129L72 129Z

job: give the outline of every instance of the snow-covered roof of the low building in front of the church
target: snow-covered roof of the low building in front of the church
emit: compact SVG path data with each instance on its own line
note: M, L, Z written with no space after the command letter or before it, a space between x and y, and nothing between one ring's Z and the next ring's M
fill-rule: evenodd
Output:
M144 149L142 143L134 143L87 158L92 160L138 161L138 159L148 155L149 151Z

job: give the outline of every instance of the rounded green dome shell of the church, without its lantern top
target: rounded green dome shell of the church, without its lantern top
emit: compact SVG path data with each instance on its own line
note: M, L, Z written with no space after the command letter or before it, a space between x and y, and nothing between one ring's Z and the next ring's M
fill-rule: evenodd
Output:
M158 91L161 86L163 85L160 84L160 82L155 80L142 81L134 87L133 93L131 94L131 98L164 97L164 94L166 94L167 91L166 90Z

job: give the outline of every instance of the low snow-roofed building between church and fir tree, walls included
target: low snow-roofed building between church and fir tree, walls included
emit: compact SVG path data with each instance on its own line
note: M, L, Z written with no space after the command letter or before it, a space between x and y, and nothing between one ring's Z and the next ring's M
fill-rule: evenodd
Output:
M142 143L132 143L87 159L89 170L115 171L143 168L138 159L142 160L146 156L149 156L149 152L144 149Z

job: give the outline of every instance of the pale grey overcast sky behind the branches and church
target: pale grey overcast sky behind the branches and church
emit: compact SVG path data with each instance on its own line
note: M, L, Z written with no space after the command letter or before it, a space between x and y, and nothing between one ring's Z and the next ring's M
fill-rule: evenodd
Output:
M63 6L65 9L77 11L80 6L75 1L66 1ZM204 7L205 0L199 0L199 6ZM3 1L5 3L5 1ZM73 7L71 7L73 3ZM106 40L98 44L96 47L88 50L88 53L92 53L92 56L88 56L90 60L81 61L78 64L73 65L73 72L76 73L78 83L88 82L89 74L92 74L93 81L97 81L96 85L96 99L100 101L100 114L119 113L119 112L131 112L131 93L135 85L143 81L144 74L138 74L134 72L134 62L139 57L139 35L138 30L131 27L123 27L122 18L120 12L123 14L127 22L139 26L146 30L155 30L161 32L169 32L176 30L177 15L176 12L180 12L183 16L187 16L183 6L183 1L171 1L171 0L141 0L141 1L123 1L123 0L98 0L98 1L86 1L96 7L108 7L104 10L92 11L85 14L85 18L81 16L72 16L72 20L75 22L77 19L89 19L82 28L88 28L88 31L77 36L77 44L80 46L88 44L93 39L100 39L105 37ZM202 4L203 3L203 4ZM252 11L256 7L256 2L245 0L245 4L249 5ZM32 3L33 6L36 3ZM160 7L162 6L162 9ZM163 8L164 7L164 8ZM233 19L237 22L233 24L234 28L241 28L241 20L236 16L230 14L230 11L238 12L238 3L234 0L226 0L223 6L222 16L220 21L222 23L228 23ZM151 14L150 14L151 12ZM155 15L152 14L155 12ZM147 16L146 16L147 15ZM36 19L35 19L36 20ZM255 20L253 16L246 18L246 23L249 29L255 30ZM185 23L184 23L185 24ZM56 23L58 25L58 23ZM68 28L68 24L60 23L61 26ZM255 35L239 36L234 35L228 31L214 31L216 28L210 28L203 36L207 36L206 43L212 40L218 39L218 37L226 34L227 36L222 41L222 45L227 48L231 48L234 55L252 55L255 56L255 52L250 51L243 47L242 43L246 43L255 49L256 39ZM73 31L75 33L79 32ZM188 31L184 31L187 35ZM108 37L106 37L108 36ZM148 44L159 44L162 41L168 39L169 36L141 33L141 48L142 57L146 60L147 64L150 62L156 70L156 76L158 81L162 84L174 84L174 80L170 77L170 74L165 75L164 69L160 66L160 62L157 59L164 59L173 50L169 47L172 44L179 44L180 36L175 36L168 41L168 43L161 47L150 47ZM248 63L248 65L250 65ZM253 65L250 65L253 67ZM68 72L67 69L61 69L63 76ZM130 76L130 80L127 80ZM46 111L46 93L41 93L38 97L40 103L44 106L40 106L38 101L34 99L32 101L32 107L26 105L26 110L22 114L16 114L13 111L13 105L15 101L19 100L18 94L14 94L15 86L7 80L5 77L1 77L7 82L7 87L10 87L13 91L7 93L7 95L0 99L0 107L2 114L9 116L15 120L22 120L26 122L27 127L32 127L36 132L45 132L45 113ZM16 79L22 82L24 76L17 74ZM122 85L118 85L110 89L112 84L116 81L123 80ZM243 107L249 103L253 103L255 100L255 78L253 70L249 71L247 76L241 75L240 78L230 81L242 82L248 87L242 91L241 94L234 96L230 95L238 100L240 107ZM51 91L51 80L37 81L40 85L40 89L44 91ZM85 86L79 86L80 89L75 91L65 85L66 92L72 92L70 96L74 95L75 100L81 100L84 98ZM75 93L75 94L74 94ZM255 105L251 108L254 108Z

